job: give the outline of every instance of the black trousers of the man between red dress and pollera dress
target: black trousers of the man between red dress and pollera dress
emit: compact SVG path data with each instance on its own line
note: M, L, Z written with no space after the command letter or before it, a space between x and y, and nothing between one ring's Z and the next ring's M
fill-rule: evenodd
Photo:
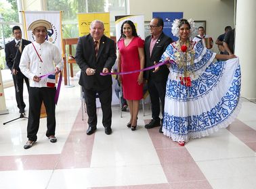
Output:
M160 120L160 101L162 106L162 115L164 115L166 83L167 82L155 82L154 80L148 80L148 92L150 93L152 118L155 120Z

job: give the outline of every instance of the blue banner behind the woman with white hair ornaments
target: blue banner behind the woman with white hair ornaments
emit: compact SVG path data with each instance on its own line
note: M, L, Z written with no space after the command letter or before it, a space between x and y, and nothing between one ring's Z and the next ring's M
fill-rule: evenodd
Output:
M173 23L173 20L183 18L183 12L153 12L152 14L153 18L160 17L163 18L164 21L164 28L163 32L171 37L173 41L177 41L178 38L176 36L173 36L171 32L171 24Z

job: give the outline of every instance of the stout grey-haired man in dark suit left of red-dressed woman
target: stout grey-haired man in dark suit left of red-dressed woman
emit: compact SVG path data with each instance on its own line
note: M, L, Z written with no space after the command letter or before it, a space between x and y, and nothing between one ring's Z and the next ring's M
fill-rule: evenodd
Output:
M111 101L112 78L100 76L100 72L110 72L116 60L114 41L104 35L104 24L100 20L91 22L90 34L79 38L75 57L81 76L79 84L85 92L88 125L87 134L93 134L97 129L96 94L102 105L102 124L106 134L111 134Z

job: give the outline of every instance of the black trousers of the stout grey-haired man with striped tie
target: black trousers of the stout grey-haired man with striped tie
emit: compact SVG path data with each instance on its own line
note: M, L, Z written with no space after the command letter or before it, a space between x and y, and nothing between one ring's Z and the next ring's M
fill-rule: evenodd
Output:
M97 113L96 113L96 94L98 93L98 97L100 99L100 103L102 106L102 124L105 128L111 127L111 119L112 119L112 109L111 109L111 101L112 101L112 87L109 87L105 90L87 90L85 91L85 103L88 114L88 125L91 127L97 126Z

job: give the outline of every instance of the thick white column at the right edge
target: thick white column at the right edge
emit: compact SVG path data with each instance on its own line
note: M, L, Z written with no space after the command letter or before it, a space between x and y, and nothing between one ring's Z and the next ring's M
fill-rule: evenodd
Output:
M235 54L242 70L242 97L256 99L256 1L237 0Z

